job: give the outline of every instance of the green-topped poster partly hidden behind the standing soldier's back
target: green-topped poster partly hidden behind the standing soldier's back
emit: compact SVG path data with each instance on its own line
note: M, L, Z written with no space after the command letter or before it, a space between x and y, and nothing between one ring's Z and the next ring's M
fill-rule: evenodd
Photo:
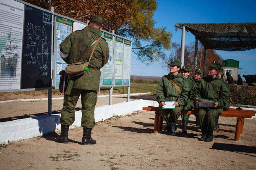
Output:
M104 67L101 69L101 86L111 86L112 78L113 78L113 59L114 59L114 49L113 49L113 35L109 33L102 34L104 39L107 41L109 45L109 61Z

